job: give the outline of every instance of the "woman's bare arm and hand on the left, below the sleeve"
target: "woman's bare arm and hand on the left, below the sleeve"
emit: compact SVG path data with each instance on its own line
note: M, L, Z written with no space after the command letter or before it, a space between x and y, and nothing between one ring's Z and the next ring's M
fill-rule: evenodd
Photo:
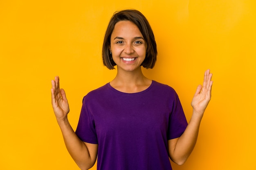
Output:
M69 113L70 109L64 89L59 88L58 76L55 77L55 81L52 80L51 90L52 107L58 125L61 128L67 150L79 168L82 170L87 170L94 165L97 159L98 145L81 141L70 126L70 123L67 119L67 114Z

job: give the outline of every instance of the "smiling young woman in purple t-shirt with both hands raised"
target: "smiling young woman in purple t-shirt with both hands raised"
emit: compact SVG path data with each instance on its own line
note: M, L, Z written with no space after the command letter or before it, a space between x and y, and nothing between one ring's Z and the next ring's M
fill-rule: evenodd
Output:
M157 56L144 15L136 10L115 13L102 55L107 68L117 65L117 75L83 98L76 132L67 119L69 105L59 77L52 81L52 107L74 161L83 170L91 168L97 157L99 170L171 170L169 158L182 165L195 146L211 99L210 71L196 89L188 124L174 89L141 72L141 66L153 68Z

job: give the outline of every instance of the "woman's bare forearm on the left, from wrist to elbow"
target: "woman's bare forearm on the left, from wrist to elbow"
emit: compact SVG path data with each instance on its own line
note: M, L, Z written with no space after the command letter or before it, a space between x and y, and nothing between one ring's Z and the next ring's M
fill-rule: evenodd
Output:
M76 135L68 120L58 121L68 152L81 169L91 168L96 158L91 157L88 147ZM95 160L94 160L95 159Z

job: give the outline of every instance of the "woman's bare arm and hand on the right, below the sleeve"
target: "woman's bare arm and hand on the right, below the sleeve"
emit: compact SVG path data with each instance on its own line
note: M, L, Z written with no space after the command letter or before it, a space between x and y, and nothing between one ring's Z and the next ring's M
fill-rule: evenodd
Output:
M184 133L179 138L168 140L169 155L171 160L178 165L185 163L195 147L200 122L204 111L211 100L211 87L213 84L211 77L212 74L210 73L210 70L206 70L204 73L203 85L198 85L191 102L193 113Z

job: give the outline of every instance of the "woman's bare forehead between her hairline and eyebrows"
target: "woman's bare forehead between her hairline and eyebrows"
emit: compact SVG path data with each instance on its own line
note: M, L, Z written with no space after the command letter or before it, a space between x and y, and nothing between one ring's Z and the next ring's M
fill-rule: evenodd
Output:
M133 22L130 21L119 21L115 24L114 30L112 32L112 35L116 34L125 34L125 35L140 35L142 36L141 32L139 31L139 28L137 25L135 25ZM112 36L111 35L111 36Z

